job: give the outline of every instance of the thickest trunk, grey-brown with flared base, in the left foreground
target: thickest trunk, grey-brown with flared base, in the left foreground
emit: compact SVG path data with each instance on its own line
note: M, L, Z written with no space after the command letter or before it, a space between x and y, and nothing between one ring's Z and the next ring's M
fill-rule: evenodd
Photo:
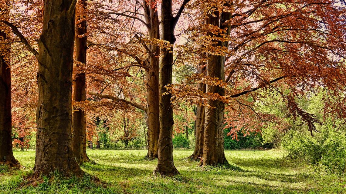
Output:
M38 41L38 104L34 177L84 172L72 152L72 69L75 0L45 0Z

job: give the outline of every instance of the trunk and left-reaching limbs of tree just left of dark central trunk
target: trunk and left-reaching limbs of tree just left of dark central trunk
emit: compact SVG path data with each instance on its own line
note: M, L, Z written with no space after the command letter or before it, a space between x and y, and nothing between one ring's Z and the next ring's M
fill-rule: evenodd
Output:
M125 4L128 4L126 1ZM145 70L146 77L146 89L147 89L147 105L146 105L146 114L148 116L148 130L147 130L147 141L148 141L148 153L147 158L154 159L157 158L157 142L158 135L160 131L160 122L159 122L159 100L160 100L160 87L159 87L159 66L160 66L160 47L156 43L151 41L157 41L160 39L160 22L158 19L157 13L157 2L155 0L143 0L142 3L139 1L135 2L136 6L134 11L125 11L122 13L117 12L107 12L110 15L117 15L121 17L126 17L127 19L140 21L141 24L147 29L148 40L143 40L144 38L134 30L134 37L137 41L141 42L144 49L147 52L147 58L142 59L137 56L137 53L130 53L127 50L118 49L118 52L124 52L129 55L129 57L134 58L135 62L131 63L131 66L142 67ZM139 8L137 8L139 4ZM143 8L143 13L138 13L139 10ZM126 14L127 12L131 14ZM144 20L139 17L143 16ZM128 25L128 24L127 24ZM120 68L122 69L122 68ZM99 96L98 94L94 94ZM106 96L103 96L106 97ZM112 96L110 99L115 99L115 96ZM119 99L121 100L121 99ZM128 103L133 105L134 103ZM138 108L137 106L135 106ZM142 109L142 108L140 108ZM143 110L143 109L142 109Z

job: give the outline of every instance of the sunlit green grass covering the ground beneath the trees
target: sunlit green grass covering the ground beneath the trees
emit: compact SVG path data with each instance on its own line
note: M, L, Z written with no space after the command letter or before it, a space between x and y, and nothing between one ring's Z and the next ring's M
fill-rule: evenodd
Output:
M100 182L83 178L44 177L38 186L25 185L23 177L32 173L34 151L14 151L15 157L26 167L9 170L0 166L0 193L26 194L290 194L290 193L346 193L346 183L333 176L319 176L309 166L291 161L279 150L226 151L230 163L241 169L213 167L202 170L198 162L184 158L189 150L174 150L174 164L181 175L175 177L153 176L157 161L144 159L145 150L88 150L89 157L97 164L86 163L82 169L97 176Z

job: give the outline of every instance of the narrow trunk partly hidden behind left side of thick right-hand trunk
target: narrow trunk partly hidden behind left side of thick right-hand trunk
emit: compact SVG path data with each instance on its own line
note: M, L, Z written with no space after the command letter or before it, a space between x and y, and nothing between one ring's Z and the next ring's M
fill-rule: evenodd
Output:
M203 58L203 55L201 55L201 59ZM200 62L198 66L198 73L206 75L206 63ZM206 84L199 84L198 89L201 90L203 93L206 92ZM203 143L204 143L204 116L205 116L205 110L206 108L204 106L197 106L197 113L196 113L196 142L195 142L195 149L193 151L193 154L190 156L193 160L199 160L203 156Z

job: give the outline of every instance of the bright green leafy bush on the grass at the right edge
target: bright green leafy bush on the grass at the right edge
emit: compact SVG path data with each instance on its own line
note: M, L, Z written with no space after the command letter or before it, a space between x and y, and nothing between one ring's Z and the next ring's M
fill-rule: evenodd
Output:
M346 167L346 133L325 125L321 133L309 134L291 131L282 140L282 147L289 157L301 158L322 174L343 177Z

